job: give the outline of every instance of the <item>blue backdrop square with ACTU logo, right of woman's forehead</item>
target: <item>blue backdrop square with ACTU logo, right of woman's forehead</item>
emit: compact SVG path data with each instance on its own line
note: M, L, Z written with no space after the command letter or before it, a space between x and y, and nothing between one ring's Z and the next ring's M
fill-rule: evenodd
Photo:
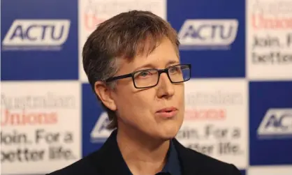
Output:
M168 1L192 77L245 77L245 1Z

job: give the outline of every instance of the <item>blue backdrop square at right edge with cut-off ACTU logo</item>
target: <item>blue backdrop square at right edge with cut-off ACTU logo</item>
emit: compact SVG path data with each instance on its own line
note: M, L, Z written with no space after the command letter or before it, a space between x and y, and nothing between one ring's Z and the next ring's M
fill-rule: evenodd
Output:
M292 164L292 82L250 82L250 165Z

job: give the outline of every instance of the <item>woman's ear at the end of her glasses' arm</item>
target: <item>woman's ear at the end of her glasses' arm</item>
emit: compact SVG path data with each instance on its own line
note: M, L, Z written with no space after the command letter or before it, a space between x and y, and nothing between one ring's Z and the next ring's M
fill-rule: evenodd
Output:
M117 105L115 104L115 100L112 98L112 89L106 86L104 82L95 82L94 91L97 94L98 98L101 99L103 105L115 111L117 109Z

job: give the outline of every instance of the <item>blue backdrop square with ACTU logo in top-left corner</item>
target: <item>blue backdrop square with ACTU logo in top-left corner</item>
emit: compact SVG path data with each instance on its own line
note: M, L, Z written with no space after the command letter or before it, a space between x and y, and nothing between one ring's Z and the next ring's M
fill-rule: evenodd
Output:
M1 79L78 79L78 1L1 1Z

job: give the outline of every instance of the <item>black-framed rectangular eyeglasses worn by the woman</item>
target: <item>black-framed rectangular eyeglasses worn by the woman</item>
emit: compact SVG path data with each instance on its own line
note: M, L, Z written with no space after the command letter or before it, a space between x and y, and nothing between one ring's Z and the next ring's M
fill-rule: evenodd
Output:
M133 84L137 89L144 89L156 86L159 83L161 73L166 73L168 79L173 84L187 82L191 79L191 64L178 64L165 69L145 69L138 70L126 75L110 77L105 82L112 82L117 79L132 77Z

